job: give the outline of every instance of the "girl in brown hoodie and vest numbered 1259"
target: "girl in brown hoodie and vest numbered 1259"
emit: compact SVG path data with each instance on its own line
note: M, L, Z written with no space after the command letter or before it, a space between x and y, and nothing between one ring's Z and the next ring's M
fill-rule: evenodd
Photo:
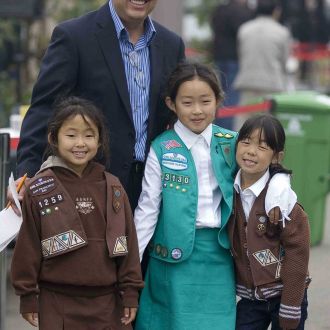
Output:
M93 161L108 151L100 111L63 100L48 142L50 156L24 195L12 261L20 312L40 329L130 329L143 282L126 193Z

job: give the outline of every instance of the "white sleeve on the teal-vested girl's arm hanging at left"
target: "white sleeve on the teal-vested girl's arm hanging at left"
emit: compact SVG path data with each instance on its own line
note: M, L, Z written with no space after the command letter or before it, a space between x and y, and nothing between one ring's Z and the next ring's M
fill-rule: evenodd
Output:
M154 234L162 199L161 168L155 151L150 148L142 180L142 192L134 212L140 260Z

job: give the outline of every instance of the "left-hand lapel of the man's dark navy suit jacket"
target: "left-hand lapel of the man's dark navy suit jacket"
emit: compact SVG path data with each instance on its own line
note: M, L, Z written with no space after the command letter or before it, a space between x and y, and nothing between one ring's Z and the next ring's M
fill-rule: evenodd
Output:
M108 68L111 72L111 76L117 86L117 91L129 117L133 122L125 67L116 34L116 29L111 19L108 4L105 4L99 10L95 35L103 52Z

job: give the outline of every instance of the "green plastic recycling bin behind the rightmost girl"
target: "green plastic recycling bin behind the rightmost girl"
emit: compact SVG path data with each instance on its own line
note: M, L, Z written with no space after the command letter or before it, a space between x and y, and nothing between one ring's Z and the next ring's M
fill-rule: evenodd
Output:
M322 241L330 182L330 97L316 92L271 96L273 114L286 134L284 165L309 216L311 244Z

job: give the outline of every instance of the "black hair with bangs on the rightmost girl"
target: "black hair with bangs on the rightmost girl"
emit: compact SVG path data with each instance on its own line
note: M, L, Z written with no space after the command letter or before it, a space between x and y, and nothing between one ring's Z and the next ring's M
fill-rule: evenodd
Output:
M284 128L280 121L270 114L259 114L247 119L239 130L236 143L249 138L256 129L260 129L259 139L261 139L261 135L263 134L266 144L274 153L284 151ZM292 174L291 170L284 168L281 164L271 164L269 171L271 176L276 173Z

